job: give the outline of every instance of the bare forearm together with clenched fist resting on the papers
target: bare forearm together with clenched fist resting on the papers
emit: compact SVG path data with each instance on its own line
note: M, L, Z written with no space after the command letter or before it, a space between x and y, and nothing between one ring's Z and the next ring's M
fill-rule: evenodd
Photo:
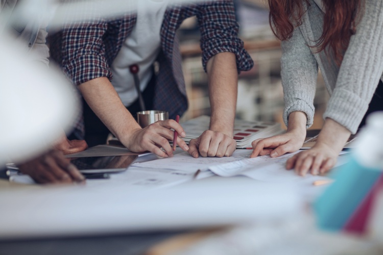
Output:
M233 126L237 98L238 73L235 55L214 55L207 62L211 119L209 130L190 141L189 153L198 157L229 157L236 148Z

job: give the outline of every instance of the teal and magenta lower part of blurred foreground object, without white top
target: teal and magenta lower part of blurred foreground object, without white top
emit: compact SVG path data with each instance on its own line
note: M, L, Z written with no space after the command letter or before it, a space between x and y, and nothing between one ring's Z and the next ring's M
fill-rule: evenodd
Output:
M352 159L334 177L336 181L314 204L319 226L330 231L364 233L375 194L383 186L383 172Z

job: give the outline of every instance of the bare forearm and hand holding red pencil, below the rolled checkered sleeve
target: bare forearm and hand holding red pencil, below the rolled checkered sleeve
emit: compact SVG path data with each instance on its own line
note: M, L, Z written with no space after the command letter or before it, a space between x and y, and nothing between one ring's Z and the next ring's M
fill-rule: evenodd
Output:
M79 89L93 112L131 151L149 150L160 157L173 156L168 140L173 140L174 132L170 129L185 136L184 130L175 120L157 121L141 129L106 77L82 83ZM180 137L177 137L177 144L184 150L188 149ZM161 147L166 153L160 149Z

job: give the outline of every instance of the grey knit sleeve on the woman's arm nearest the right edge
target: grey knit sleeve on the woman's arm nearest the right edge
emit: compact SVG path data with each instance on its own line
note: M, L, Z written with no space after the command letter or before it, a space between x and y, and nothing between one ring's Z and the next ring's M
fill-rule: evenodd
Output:
M382 36L383 2L368 0L356 34L350 38L336 87L323 115L353 134L367 112L383 72Z

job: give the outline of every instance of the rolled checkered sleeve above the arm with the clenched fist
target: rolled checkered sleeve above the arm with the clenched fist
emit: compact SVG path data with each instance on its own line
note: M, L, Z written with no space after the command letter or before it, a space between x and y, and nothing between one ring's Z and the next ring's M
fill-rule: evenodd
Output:
M232 1L212 1L201 5L197 14L201 30L202 64L206 72L207 61L221 52L236 56L238 72L250 70L254 63L238 38L239 25L235 20Z

